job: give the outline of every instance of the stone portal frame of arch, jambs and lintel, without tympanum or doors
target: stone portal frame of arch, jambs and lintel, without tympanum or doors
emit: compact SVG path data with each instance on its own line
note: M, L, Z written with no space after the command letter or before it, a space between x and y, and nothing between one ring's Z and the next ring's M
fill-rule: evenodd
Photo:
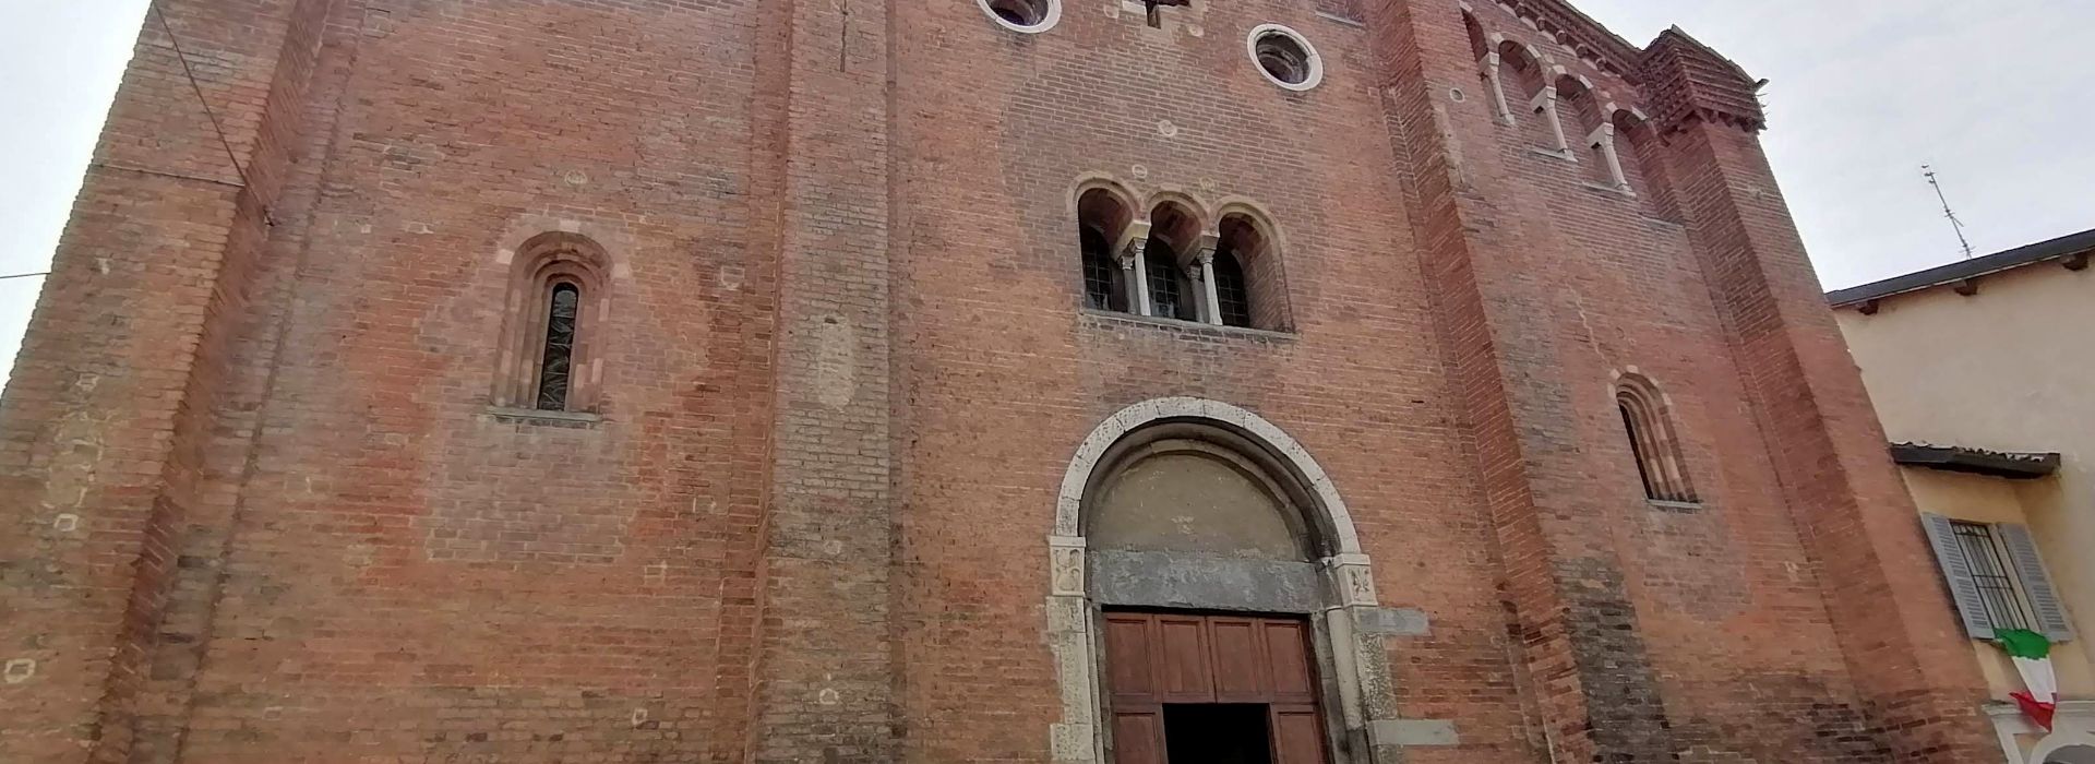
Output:
M1089 548L1085 509L1098 481L1117 469L1117 446L1156 431L1184 437L1198 429L1213 431L1223 448L1247 452L1291 486L1291 504L1305 515L1301 521L1311 538L1309 561L1131 561L1129 553ZM1200 398L1159 398L1106 417L1068 463L1048 550L1048 636L1062 697L1062 720L1050 728L1058 764L1106 760L1110 724L1102 703L1098 626L1106 605L1305 617L1314 628L1324 737L1335 764L1393 762L1395 747L1406 745L1399 731L1416 728L1410 726L1416 722L1395 720L1383 636L1423 634L1425 617L1379 607L1368 555L1330 475L1295 437L1251 410ZM1238 586L1242 580L1293 584Z

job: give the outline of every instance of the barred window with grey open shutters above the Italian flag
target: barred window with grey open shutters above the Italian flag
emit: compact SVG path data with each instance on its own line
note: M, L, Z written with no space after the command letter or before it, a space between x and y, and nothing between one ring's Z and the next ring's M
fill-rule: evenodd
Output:
M2053 643L2074 638L2066 603L2026 525L1921 515L1921 527L1967 634L1994 638L2001 630L2032 630Z

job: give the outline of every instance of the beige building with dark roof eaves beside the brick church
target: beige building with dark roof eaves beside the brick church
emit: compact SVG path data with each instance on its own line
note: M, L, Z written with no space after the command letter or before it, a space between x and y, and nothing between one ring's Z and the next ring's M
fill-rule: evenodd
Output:
M2095 764L2095 230L1829 299L1936 544L2011 764ZM2047 733L1986 636L2047 634Z

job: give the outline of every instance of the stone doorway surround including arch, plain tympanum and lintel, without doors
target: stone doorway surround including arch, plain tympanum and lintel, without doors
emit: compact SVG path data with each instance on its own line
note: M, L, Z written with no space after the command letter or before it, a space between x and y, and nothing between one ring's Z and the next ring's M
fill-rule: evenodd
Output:
M1048 636L1062 689L1054 762L1106 758L1100 613L1293 613L1314 630L1330 760L1381 762L1395 718L1370 561L1337 486L1295 437L1244 408L1161 398L1077 448L1050 546Z

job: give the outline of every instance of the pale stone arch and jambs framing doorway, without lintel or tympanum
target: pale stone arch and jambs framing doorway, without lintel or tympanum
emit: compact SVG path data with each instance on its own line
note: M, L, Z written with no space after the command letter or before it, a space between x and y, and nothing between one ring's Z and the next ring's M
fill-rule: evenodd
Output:
M1062 695L1062 720L1050 726L1052 760L1056 764L1096 764L1104 760L1104 720L1098 676L1096 607L1087 588L1087 544L1083 534L1083 502L1094 473L1108 450L1121 440L1152 425L1194 423L1244 437L1284 465L1299 488L1311 496L1303 513L1324 536L1320 571L1320 603L1309 613L1318 634L1320 674L1326 676L1326 728L1337 764L1368 764L1393 760L1395 741L1387 728L1395 720L1389 705L1389 661L1383 641L1364 630L1364 622L1385 622L1376 605L1374 576L1368 555L1360 548L1353 517L1339 488L1314 456L1286 431L1263 417L1215 400L1156 398L1106 417L1077 446L1062 488L1056 496L1054 532L1048 536L1048 645L1056 661ZM1343 741L1343 743L1341 743Z

